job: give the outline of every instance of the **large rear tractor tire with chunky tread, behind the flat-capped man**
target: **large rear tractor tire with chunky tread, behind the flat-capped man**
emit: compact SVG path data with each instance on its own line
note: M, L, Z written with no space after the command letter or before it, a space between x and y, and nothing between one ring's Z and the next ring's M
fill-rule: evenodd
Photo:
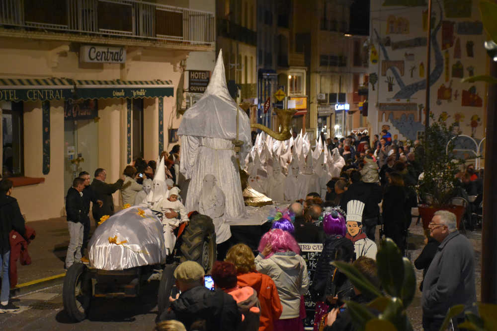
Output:
M195 261L206 272L216 261L216 232L212 219L206 215L195 215L182 235L180 261Z

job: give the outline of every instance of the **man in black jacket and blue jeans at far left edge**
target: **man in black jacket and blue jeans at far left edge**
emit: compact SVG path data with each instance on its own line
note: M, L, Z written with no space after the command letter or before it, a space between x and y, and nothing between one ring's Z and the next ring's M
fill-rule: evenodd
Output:
M12 181L3 179L0 182L0 266L1 266L1 291L0 313L10 313L19 310L19 307L9 303L10 282L8 266L10 259L9 233L17 231L24 236L24 218L19 204L12 198Z

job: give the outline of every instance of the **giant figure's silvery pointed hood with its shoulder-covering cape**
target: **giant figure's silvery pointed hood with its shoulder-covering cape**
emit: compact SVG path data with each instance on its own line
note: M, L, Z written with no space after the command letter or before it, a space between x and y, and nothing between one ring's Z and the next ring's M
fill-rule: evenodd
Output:
M244 142L241 160L252 144L250 120L247 114L230 96L226 84L223 53L219 51L216 66L204 94L184 113L178 135L234 139L237 136L237 112L239 139Z

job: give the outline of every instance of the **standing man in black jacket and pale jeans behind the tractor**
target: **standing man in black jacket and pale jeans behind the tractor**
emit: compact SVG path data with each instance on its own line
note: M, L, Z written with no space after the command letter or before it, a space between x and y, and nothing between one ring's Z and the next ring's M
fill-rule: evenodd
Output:
M69 245L67 247L65 269L81 261L81 247L83 246L83 222L88 217L83 201L84 179L75 178L73 186L66 196L67 227L69 229Z

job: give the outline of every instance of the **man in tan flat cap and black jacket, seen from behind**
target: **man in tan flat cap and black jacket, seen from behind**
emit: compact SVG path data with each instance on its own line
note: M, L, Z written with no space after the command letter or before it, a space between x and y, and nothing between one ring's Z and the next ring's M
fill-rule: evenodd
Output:
M174 298L159 320L177 320L186 330L233 331L242 322L237 302L223 290L211 291L204 286L204 269L193 261L186 261L174 270L176 286L181 294ZM201 330L202 330L201 329Z

